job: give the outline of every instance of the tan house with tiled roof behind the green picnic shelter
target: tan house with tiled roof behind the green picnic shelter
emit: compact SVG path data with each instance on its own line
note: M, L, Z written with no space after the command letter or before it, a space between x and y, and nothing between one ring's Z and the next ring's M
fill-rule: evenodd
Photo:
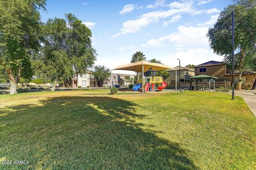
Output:
M200 74L206 74L209 76L218 77L216 82L224 82L225 80L232 81L232 70L228 70L226 68L226 64L223 62L218 61L208 61L203 64L199 64L197 66L194 66L195 68L195 76L198 76ZM238 70L234 70L234 76L235 76L235 86L238 82ZM256 72L255 71L244 71L242 73L242 79L244 79L244 82L242 83L242 89L249 87L252 88L252 85L254 83L254 80L256 78ZM204 80L198 80L198 81L204 81Z

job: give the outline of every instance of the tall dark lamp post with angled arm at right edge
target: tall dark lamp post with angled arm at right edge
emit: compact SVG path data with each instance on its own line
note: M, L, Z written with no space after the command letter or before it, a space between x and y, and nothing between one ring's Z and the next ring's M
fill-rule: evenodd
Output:
M241 10L246 7L251 7L256 5L256 2L244 6L242 8L238 8L237 10ZM234 12L237 10L232 10L232 100L234 100L234 86L235 86L235 77L234 77Z

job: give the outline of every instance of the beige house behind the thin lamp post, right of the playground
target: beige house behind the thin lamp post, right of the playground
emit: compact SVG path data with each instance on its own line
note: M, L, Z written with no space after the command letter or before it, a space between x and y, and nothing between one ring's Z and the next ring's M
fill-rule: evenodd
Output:
M167 69L170 76L164 80L165 82L175 82L175 78L177 78L177 82L179 82L179 79L180 82L188 82L188 80L190 80L189 77L195 76L194 68L186 68L182 66L176 66L174 68L177 70L177 76L175 70Z

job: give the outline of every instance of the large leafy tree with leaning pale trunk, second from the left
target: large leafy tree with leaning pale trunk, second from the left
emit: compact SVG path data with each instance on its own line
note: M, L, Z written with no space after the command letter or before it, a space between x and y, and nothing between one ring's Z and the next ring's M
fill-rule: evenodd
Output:
M44 45L41 60L42 75L54 82L55 90L59 80L72 76L74 71L84 74L92 68L96 60L96 50L92 48L92 32L82 21L72 14L65 19L49 19L44 24ZM50 76L47 76L49 75ZM48 78L46 78L48 77Z

